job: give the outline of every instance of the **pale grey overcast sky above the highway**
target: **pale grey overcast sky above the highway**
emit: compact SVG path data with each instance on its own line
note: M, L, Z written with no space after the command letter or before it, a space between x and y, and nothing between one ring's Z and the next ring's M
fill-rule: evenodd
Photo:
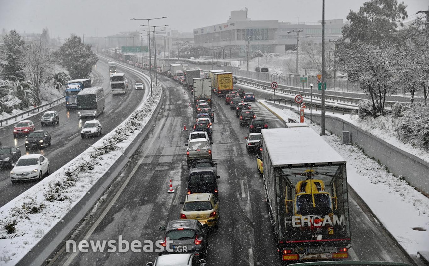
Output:
M344 19L350 9L358 11L367 0L325 0L325 19ZM408 17L427 10L429 0L404 0ZM144 21L169 25L182 32L224 23L230 11L249 9L252 20L317 22L322 19L321 0L0 0L0 28L7 31L41 33L48 27L51 37L107 36L141 30Z

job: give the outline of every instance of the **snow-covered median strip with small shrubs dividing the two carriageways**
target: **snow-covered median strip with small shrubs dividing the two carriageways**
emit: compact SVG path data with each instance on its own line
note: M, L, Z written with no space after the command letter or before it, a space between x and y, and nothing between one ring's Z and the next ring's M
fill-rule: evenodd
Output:
M0 265L15 265L75 206L120 158L161 99L153 97L74 160L0 208Z

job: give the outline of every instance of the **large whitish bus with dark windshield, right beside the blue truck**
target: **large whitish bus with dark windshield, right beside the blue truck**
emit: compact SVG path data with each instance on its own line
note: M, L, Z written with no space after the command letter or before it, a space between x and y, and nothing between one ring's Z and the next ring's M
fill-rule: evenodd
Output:
M104 90L90 87L79 91L77 96L79 117L97 117L104 112Z

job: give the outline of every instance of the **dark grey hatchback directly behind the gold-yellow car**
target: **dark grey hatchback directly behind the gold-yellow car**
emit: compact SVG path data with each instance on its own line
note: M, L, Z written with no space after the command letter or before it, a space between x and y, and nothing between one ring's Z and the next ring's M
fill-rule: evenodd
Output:
M161 243L165 247L165 250L159 255L190 253L199 258L206 257L206 228L198 220L172 220L167 224L167 227L161 226L159 230L165 231L162 239L163 242ZM169 247L167 247L167 239L169 240Z

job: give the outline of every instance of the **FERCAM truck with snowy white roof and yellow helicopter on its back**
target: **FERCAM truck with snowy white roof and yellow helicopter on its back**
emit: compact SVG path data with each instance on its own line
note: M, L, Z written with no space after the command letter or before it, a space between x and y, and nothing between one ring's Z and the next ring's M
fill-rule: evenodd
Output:
M308 126L262 129L263 183L283 261L348 258L346 161Z

